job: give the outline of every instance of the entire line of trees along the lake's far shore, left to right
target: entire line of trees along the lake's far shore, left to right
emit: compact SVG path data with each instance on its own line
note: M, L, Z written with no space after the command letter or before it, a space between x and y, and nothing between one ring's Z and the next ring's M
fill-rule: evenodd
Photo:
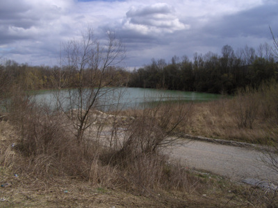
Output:
M86 76L86 71L83 76L84 86L86 82L90 85L90 76ZM187 56L174 56L170 63L163 59L152 59L150 64L133 71L111 66L106 69L105 76L106 80L113 80L113 83L109 83L113 87L234 94L238 88L259 87L264 81L278 80L278 62L268 44L261 44L257 50L245 46L236 53L231 46L225 45L222 47L222 55L212 52L205 55L195 53L193 60L189 60ZM77 80L77 69L72 70L67 66L38 67L19 64L13 60L2 60L0 64L2 92L15 86L23 90L77 87Z

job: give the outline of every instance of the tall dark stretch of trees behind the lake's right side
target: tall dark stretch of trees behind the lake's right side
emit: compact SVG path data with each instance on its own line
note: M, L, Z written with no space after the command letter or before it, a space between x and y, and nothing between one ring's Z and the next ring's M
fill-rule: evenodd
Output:
M278 64L268 44L257 51L252 47L234 49L225 45L222 55L208 52L187 56L174 56L172 62L152 60L131 73L129 87L146 87L233 94L238 87L258 87L263 81L277 80Z

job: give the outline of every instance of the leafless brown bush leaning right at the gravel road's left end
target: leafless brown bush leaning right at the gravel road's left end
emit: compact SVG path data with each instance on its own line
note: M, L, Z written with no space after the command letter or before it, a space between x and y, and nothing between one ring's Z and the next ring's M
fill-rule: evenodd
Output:
M137 155L156 152L162 146L169 146L179 141L174 131L179 125L185 125L191 105L183 103L155 103L133 115L136 119L126 129L124 143L119 153Z

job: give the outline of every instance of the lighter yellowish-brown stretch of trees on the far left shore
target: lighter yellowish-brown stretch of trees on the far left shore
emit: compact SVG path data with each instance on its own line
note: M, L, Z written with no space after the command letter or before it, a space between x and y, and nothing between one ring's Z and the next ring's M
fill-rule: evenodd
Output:
M2 91L7 91L10 87L19 87L25 91L74 88L78 87L81 76L83 76L83 85L86 87L91 86L90 73L89 69L85 69L80 75L78 69L67 65L62 67L57 65L54 67L30 66L27 63L19 64L14 60L2 60L0 64L0 88L3 89ZM96 70L95 73L100 73L100 70ZM111 76L111 80L114 82L110 82L110 85L117 86L115 80L124 80L124 83L127 83L129 72L122 67L109 66L105 76Z

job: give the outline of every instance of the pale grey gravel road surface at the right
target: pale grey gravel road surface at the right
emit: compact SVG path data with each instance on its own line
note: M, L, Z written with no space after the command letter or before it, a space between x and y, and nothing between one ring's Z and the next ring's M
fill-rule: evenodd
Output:
M210 171L234 182L251 178L278 183L278 173L262 162L264 155L254 148L188 140L169 150L171 159L179 160L188 168Z

